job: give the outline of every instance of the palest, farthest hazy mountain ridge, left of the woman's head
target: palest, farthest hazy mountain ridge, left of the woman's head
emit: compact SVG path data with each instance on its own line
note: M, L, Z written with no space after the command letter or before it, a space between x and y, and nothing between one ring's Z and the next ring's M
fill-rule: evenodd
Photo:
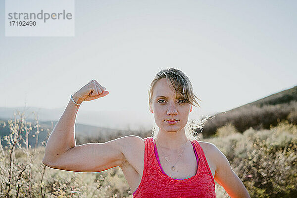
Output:
M0 107L0 119L14 119L16 110L24 111L27 119L34 119L33 111L38 114L39 121L57 121L64 112L64 108L46 109L38 107ZM149 129L153 118L146 112L141 111L86 111L79 109L76 123L105 127L110 129L137 130L139 128Z

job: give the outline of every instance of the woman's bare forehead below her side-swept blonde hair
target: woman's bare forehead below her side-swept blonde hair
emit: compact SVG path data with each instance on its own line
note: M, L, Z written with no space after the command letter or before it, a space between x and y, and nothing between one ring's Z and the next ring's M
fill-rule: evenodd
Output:
M168 80L168 83L167 83L167 79L162 78L155 83L152 97L155 98L157 96L166 96L166 97L176 96L174 92L174 88L170 83L170 80ZM178 94L178 96L180 96L180 94Z

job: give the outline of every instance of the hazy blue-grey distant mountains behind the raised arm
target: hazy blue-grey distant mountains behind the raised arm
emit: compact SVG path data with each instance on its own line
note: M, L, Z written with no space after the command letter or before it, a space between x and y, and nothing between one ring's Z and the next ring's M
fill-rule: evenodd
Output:
M6 141L3 137L10 134L7 120L14 120L14 113L17 115L17 110L20 112L25 111L26 122L31 122L32 125L36 123L35 115L37 113L40 133L38 137L37 146L41 146L48 136L48 131L56 125L65 109L46 109L37 107L16 107L16 108L4 108L0 107L0 137L2 146L6 146ZM19 116L16 116L19 118ZM6 123L6 127L2 127ZM52 124L51 124L52 123ZM138 131L145 131L151 129L151 117L146 114L135 111L85 111L79 109L75 122L75 135L77 137L107 137L115 136L116 134L137 134ZM41 131L41 128L43 131ZM137 131L138 130L138 131ZM36 129L33 129L29 134L28 142L31 147L36 144ZM135 132L134 132L135 131ZM25 132L21 133L25 138ZM34 136L34 137L33 137ZM103 138L104 139L104 138Z

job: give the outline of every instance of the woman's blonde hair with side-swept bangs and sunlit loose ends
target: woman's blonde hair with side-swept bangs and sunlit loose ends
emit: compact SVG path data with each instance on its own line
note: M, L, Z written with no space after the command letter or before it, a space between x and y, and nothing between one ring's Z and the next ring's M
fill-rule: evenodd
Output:
M156 84L156 82L160 79L166 78L167 83L170 81L171 85L174 88L174 92L176 94L176 99L178 97L178 94L183 97L183 99L194 106L197 107L197 105L200 107L197 99L198 97L193 92L192 84L189 80L189 78L179 69L162 69L159 71L154 79L151 81L149 89L148 89L148 105L152 105L152 94L153 94L153 88ZM178 93L178 94L177 94ZM200 99L198 99L200 100ZM200 100L202 101L202 100ZM200 128L200 130L203 128L205 121L211 116L206 116L203 120L200 120L199 118L195 119L188 119L188 123L185 126L185 135L191 142L195 140L199 140L198 136L195 136L195 130ZM156 130L158 127L154 125L151 131L151 135L153 137L153 140L155 141L158 135L158 130Z

